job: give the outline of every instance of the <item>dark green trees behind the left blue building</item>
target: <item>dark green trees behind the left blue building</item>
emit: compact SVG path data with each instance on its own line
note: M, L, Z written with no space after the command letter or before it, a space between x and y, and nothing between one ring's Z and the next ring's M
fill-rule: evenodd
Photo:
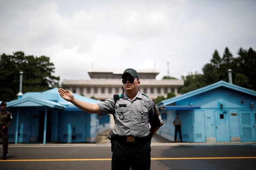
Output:
M53 76L55 67L46 56L26 56L24 52L0 55L0 100L17 99L19 93L19 72L23 72L23 93L44 91L58 86L59 77Z

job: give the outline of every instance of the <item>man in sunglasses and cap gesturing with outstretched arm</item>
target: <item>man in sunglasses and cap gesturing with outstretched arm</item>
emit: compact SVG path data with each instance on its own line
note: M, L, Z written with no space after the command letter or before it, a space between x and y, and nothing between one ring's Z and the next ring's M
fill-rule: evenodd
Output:
M124 70L122 83L123 94L115 94L98 104L78 101L69 90L58 91L61 97L84 111L114 115L112 170L149 170L151 138L163 121L154 101L138 91L140 81L136 70Z

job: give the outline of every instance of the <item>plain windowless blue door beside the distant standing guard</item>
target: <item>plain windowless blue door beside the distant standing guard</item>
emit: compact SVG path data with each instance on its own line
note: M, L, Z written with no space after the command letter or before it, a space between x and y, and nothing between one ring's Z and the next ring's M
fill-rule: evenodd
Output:
M205 142L205 119L204 110L194 111L194 142Z

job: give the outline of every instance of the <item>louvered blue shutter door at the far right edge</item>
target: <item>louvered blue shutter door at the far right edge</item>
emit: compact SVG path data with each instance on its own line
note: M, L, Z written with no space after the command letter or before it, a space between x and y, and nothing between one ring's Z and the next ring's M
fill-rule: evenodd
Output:
M239 111L241 124L241 141L256 141L256 111Z

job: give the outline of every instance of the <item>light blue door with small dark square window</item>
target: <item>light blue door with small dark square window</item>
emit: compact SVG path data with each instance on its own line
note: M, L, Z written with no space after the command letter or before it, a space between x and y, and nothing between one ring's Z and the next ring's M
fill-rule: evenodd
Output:
M215 110L216 142L230 142L228 111Z

